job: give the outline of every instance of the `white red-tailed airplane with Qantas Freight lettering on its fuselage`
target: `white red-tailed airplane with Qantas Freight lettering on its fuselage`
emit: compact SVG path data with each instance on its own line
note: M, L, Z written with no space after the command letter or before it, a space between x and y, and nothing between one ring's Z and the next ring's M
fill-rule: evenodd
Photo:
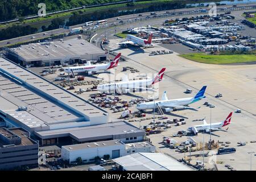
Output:
M118 66L118 61L121 57L121 53L118 53L117 56L113 59L111 63L108 64L90 64L90 61L88 61L85 65L80 67L70 67L64 69L66 73L72 73L73 77L75 77L75 73L88 73L88 75L92 75L92 73L95 73L97 71L106 71L108 69L112 69Z

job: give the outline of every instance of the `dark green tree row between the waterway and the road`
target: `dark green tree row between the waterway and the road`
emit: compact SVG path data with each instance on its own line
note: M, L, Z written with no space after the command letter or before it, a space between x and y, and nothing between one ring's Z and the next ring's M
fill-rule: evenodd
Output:
M61 0L58 0L61 1ZM73 1L73 0L72 0ZM100 19L113 18L115 16L129 15L129 14L138 14L148 11L161 11L161 10L171 10L177 8L184 8L185 3L181 2L170 2L170 3L159 3L158 5L150 5L147 7L138 8L133 7L132 3L128 3L127 8L123 10L119 9L108 9L102 11L94 11L93 13L84 13L84 11L74 11L70 16L66 26L73 26L75 24L82 24L89 21L95 21ZM51 21L51 24L46 27L42 26L43 31L50 31L56 28L59 28L60 25L64 25L64 18L56 18ZM0 40L12 39L19 36L25 36L30 34L35 34L38 32L38 28L24 25L14 25L0 30Z

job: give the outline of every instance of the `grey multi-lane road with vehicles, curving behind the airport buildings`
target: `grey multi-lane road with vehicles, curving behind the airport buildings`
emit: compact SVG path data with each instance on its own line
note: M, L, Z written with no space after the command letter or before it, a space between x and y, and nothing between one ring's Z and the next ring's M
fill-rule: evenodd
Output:
M232 7L231 5L226 5L226 6L218 6L218 11L220 13L223 13L224 11L227 11L227 10L222 10L220 11L223 7L227 7L228 10L230 11L234 11L234 10L241 10L241 11L245 11L246 9L252 7L252 6L255 6L256 4L255 3L251 3L249 5L238 5L237 7ZM188 16L188 15L198 15L198 14L205 14L205 13L196 13L196 12L192 12L193 10L196 10L198 8L191 8L191 9L177 9L177 10L169 10L170 13L175 13L175 15L173 16L166 16L164 19L167 19L168 17L170 18L176 18L176 17L179 17L179 16ZM205 9L209 9L209 7L205 7ZM168 11L168 10L167 10ZM164 14L166 13L166 11L158 11L156 12L156 14ZM134 18L145 18L146 16L149 16L150 13L141 13L142 16L139 16L138 17L138 14L132 14L132 15L126 15L126 16L120 16L122 18L122 20L129 20L129 19L134 19ZM148 20L152 20L152 19L148 19ZM156 19L154 19L156 21ZM116 17L115 18L110 18L108 19L108 24L110 23L119 23L120 20L117 20ZM76 26L71 26L70 28L77 28L77 27L81 27L81 26L84 26L84 24L77 24ZM89 26L88 26L89 27ZM93 26L90 26L90 27L93 27ZM59 29L56 29L56 30L52 30L52 31L47 31L47 32L41 32L41 33L38 33L38 34L33 34L33 35L27 35L27 36L22 36L22 37L19 37L19 38L14 38L14 39L9 39L9 40L3 40L0 42L0 47L5 47L9 44L15 44L15 43L19 43L19 42L28 42L30 40L36 40L36 39L42 39L42 38L45 38L45 37L48 37L49 35L56 35L56 34L64 34L64 33L68 33L69 30L65 30L63 28L59 28ZM47 35L44 35L44 33L47 33ZM35 39L32 39L32 36L35 36Z

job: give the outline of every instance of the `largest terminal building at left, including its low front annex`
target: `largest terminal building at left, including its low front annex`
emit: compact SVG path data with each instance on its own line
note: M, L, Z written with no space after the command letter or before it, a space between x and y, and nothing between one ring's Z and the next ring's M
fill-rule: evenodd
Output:
M127 122L108 123L107 111L4 58L0 93L0 121L7 128L23 127L41 146L144 137ZM137 140L126 141L132 137Z

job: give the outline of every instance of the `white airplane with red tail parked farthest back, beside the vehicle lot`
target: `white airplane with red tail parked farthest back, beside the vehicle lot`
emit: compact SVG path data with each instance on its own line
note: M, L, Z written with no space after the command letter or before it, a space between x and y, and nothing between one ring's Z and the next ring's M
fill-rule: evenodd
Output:
M145 40L145 39L138 38L137 36L134 36L134 35L127 35L125 42L120 42L117 44L119 44L119 45L120 44L135 44L135 45L142 46L142 47L153 47L154 44L152 44L152 42L154 42L154 41L170 39L170 38L152 39L152 36L153 36L153 34L150 34L148 40Z

